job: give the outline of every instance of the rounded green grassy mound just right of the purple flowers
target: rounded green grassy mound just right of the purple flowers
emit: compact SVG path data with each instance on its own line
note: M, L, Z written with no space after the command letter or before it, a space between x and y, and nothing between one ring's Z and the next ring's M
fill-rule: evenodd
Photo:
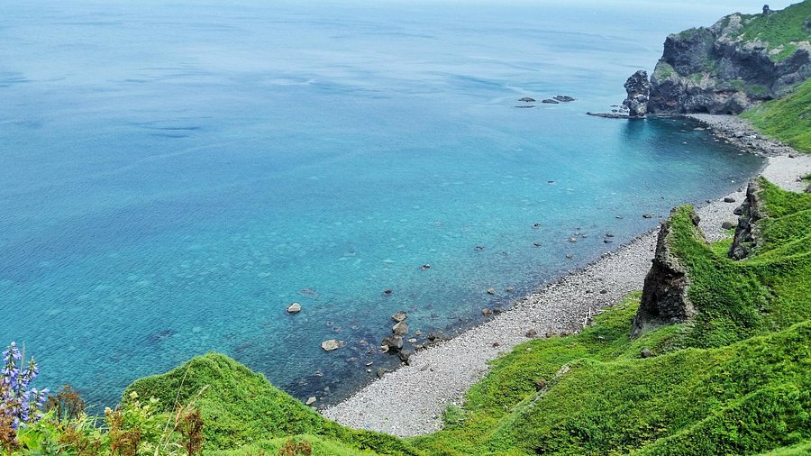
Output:
M283 437L308 435L307 440L316 436L311 442L332 448L323 454L419 454L396 437L335 424L274 388L264 376L216 353L194 358L166 374L141 378L123 397L132 391L140 397L158 398L167 411L176 402L195 400L205 422L207 451L246 454L251 448L281 445Z

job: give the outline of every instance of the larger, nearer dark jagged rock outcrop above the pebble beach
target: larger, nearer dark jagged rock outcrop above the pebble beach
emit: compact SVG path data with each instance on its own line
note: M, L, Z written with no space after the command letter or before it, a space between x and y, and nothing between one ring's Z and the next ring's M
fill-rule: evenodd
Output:
M698 226L696 213L692 214L692 220ZM631 337L638 337L662 324L684 322L696 315L696 309L688 298L687 269L671 251L670 233L670 220L662 222L651 270L645 276L642 287L642 301L633 317Z

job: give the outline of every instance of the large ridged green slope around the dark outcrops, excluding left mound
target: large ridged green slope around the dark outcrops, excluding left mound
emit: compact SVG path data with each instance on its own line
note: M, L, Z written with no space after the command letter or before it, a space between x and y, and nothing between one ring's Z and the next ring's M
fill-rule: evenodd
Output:
M753 454L807 439L811 196L765 181L761 188L770 216L746 261L702 242L688 207L672 214L669 242L688 265L700 310L693 322L632 341L632 298L581 334L528 342L497 360L451 425L418 446L447 454ZM642 348L660 356L641 360ZM569 371L558 376L564 365ZM545 386L536 392L539 378Z

